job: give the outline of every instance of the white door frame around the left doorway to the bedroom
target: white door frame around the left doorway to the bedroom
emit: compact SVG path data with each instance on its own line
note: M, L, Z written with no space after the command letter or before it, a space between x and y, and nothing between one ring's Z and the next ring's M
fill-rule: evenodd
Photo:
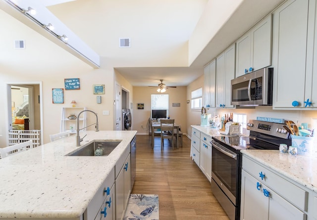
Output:
M12 111L11 111L11 85L39 85L40 86L40 120L41 120L41 144L44 141L44 132L43 132L43 92L42 92L42 81L13 81L13 82L5 82L7 90L6 90L6 104L7 105L7 112L6 112L6 120L9 124L12 123ZM30 96L29 96L30 97ZM33 99L33 97L32 97ZM34 101L34 100L33 100ZM34 123L34 122L33 122ZM12 126L11 126L12 128ZM5 133L6 135L6 146L9 146L9 135L8 132Z

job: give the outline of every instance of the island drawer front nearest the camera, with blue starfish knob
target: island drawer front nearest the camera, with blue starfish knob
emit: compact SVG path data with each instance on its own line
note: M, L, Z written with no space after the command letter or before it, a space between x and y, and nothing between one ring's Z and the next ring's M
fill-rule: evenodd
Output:
M114 184L114 168L112 168L106 180L103 182L101 187L96 192L94 198L89 203L86 211L84 212L85 220L95 219L97 213L99 213L100 206L106 200L107 192L110 193L111 188L113 188L113 184Z

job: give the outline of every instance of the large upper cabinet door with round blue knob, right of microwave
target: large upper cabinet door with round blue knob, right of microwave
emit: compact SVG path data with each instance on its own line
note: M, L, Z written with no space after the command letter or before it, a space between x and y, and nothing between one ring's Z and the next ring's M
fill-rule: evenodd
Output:
M308 0L289 1L273 17L273 106L292 107L305 93Z

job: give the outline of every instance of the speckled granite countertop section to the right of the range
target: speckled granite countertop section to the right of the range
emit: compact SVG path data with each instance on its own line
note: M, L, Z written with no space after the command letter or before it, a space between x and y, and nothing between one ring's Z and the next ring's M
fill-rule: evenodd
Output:
M241 150L241 152L282 175L317 192L317 156L292 156L276 150Z

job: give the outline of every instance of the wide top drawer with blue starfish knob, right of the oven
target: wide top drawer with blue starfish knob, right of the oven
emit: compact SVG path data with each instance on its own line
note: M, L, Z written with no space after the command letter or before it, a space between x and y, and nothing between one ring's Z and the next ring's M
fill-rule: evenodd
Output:
M243 156L242 168L301 210L307 211L308 192L306 190L245 156Z

